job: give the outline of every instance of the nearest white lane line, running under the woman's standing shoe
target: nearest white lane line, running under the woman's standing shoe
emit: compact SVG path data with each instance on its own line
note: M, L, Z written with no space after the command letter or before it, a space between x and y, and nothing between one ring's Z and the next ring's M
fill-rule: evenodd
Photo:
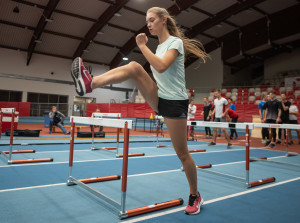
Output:
M253 192L256 192L256 191L264 190L264 189L271 188L271 187L276 187L276 186L286 184L286 183L290 183L290 182L297 181L297 180L300 180L300 177L293 178L293 179L286 180L286 181L282 181L282 182L278 182L278 183L272 183L272 184L257 187L257 188L254 188L254 189L249 189L247 191L243 191L243 192L239 192L239 193L230 194L230 195L227 195L227 196L215 198L215 199L212 199L212 200L208 200L208 201L205 201L204 205L215 203L215 202L222 201L222 200L227 200L227 199L230 199L230 198L233 198L233 197L242 196L242 195L245 195L245 194L250 194L250 193L253 193ZM152 218L156 218L156 217L160 217L160 216L163 216L163 215L172 214L172 213L179 212L179 211L184 211L184 210L185 210L185 207L180 207L180 208L175 208L175 209L168 210L168 211L159 212L159 213L156 213L156 214L151 214L151 215L144 216L144 217L139 217L139 218L136 218L136 219L131 219L131 220L127 220L127 221L125 220L125 221L122 221L122 222L134 223L134 222L144 221L144 220L148 220L148 219L152 219Z

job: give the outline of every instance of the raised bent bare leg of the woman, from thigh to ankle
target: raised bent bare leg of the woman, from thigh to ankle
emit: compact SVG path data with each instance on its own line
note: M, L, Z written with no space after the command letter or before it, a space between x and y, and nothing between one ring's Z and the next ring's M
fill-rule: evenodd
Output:
M158 111L158 88L144 68L136 63L110 70L93 78L92 88L100 88L108 84L116 84L132 78L147 103L154 111Z

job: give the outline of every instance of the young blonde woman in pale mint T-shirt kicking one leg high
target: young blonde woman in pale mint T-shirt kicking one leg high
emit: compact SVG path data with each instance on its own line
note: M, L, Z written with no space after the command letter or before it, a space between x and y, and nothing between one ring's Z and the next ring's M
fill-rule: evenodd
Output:
M136 36L136 43L150 63L157 84L136 62L92 77L82 59L78 57L73 61L71 74L76 91L81 96L108 84L134 80L151 108L165 118L174 149L182 162L190 186L189 203L185 213L198 214L203 199L197 190L196 166L187 147L189 101L185 87L184 57L185 53L191 53L205 62L208 55L201 50L200 42L184 37L166 9L150 8L147 11L146 23L150 34L158 37L156 53L153 54L147 47L148 38L145 33Z

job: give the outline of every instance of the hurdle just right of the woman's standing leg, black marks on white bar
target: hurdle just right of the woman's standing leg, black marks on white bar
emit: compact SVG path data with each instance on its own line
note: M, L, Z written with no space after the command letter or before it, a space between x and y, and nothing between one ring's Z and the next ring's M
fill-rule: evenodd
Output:
M211 170L210 168L213 167L213 165L211 165L211 164L197 165L196 168L198 170L239 181L239 182L243 183L247 188L259 186L259 185L266 184L266 183L271 183L276 180L275 177L269 177L266 179L261 179L258 181L250 182L250 179L249 179L250 178L250 165L249 165L249 163L250 163L250 134L249 134L249 130L253 129L253 127L254 127L253 123L229 123L229 122L209 122L209 123L207 123L204 121L188 121L188 125L191 125L191 126L208 126L209 125L209 127L213 127L213 128L246 129L246 140L245 140L246 176L245 177L234 176L231 174ZM253 159L251 159L251 161L253 161ZM182 168L182 170L183 170L183 168Z

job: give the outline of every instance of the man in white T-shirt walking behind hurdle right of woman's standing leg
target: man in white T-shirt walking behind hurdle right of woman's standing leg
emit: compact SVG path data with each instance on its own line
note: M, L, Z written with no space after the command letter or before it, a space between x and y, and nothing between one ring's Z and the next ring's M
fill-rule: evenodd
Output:
M221 97L221 91L216 90L215 91L215 97L214 100L214 110L211 113L211 116L215 115L214 122L226 122L226 114L229 110L229 104L228 101L225 98ZM222 128L222 131L225 134L225 138L228 142L227 148L231 148L232 144L230 143L230 137L228 134L228 131L225 128ZM217 128L214 128L213 130L213 141L209 143L209 146L215 146L216 145L216 139L217 139Z

